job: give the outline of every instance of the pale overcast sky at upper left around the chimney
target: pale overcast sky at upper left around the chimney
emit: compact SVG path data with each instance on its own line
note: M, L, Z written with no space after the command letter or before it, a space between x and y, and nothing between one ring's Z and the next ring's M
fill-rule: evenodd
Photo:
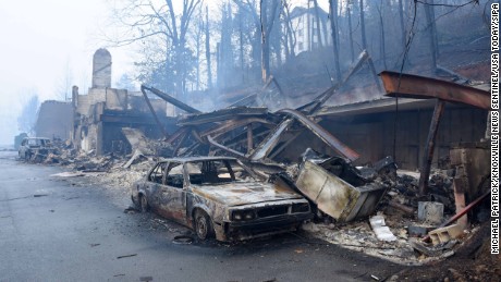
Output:
M33 94L60 99L66 77L86 93L106 11L105 0L0 0L0 144L13 143ZM117 79L130 64L122 49L109 50Z

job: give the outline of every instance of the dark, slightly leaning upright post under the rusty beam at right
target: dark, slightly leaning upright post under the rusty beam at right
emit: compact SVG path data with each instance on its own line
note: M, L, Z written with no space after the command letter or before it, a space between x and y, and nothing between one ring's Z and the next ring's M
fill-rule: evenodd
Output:
M431 124L428 132L428 138L426 140L425 156L420 168L419 175L419 195L424 196L428 193L428 179L430 176L431 161L433 160L435 144L437 139L437 132L442 118L445 102L437 99L435 105L433 117L431 118Z

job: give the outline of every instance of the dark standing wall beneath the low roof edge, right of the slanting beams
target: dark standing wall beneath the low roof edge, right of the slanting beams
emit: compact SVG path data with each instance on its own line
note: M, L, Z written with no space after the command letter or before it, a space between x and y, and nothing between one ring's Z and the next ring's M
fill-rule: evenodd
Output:
M356 164L364 164L393 156L395 142L395 160L400 168L415 170L423 160L426 139L431 122L432 109L410 110L398 113L396 135L395 113L368 113L344 117L326 117L320 124L341 142L361 155ZM477 142L485 135L487 112L472 107L448 105L437 134L433 165L440 159L449 157L452 143ZM279 157L296 161L307 147L326 154L335 155L318 137L304 132L297 142L291 144Z

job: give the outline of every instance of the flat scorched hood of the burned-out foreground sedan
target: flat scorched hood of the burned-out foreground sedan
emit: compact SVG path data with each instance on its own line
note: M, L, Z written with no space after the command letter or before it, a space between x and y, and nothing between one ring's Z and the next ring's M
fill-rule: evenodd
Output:
M233 182L204 186L193 185L192 191L194 194L227 206L303 198L303 196L289 187L259 182Z

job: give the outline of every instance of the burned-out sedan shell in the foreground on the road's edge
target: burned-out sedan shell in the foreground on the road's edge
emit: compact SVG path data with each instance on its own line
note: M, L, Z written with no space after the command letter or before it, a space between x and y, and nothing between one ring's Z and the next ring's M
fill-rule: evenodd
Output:
M195 230L200 240L239 241L296 230L313 218L308 201L286 185L258 181L229 157L157 162L132 187L132 201Z

